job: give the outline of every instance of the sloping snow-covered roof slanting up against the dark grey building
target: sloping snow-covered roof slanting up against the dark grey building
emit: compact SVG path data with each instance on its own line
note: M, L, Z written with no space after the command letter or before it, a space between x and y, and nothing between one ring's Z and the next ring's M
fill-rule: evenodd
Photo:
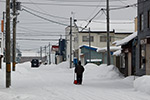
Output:
M113 42L113 44L115 44L116 46L124 45L124 44L128 43L130 40L132 40L133 38L135 38L136 36L137 36L137 32L134 32L133 34L125 37L122 40Z

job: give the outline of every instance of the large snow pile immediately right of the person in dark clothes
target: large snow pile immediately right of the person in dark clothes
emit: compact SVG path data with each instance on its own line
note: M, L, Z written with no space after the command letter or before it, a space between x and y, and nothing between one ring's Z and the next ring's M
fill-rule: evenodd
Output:
M88 73L89 77L98 79L120 79L123 77L114 65L107 66L106 64L101 64L97 66L96 64L89 63L84 67L85 73Z

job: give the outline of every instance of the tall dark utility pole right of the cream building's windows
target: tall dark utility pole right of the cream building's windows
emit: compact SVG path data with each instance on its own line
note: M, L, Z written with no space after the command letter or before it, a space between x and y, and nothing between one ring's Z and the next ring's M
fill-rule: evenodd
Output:
M109 0L107 0L107 65L110 65Z

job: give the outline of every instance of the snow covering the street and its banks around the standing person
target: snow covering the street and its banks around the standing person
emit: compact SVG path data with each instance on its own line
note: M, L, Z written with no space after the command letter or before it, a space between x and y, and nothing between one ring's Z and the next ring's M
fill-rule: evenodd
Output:
M4 65L5 66L5 65ZM0 70L0 100L149 100L136 91L134 78L123 78L115 66L87 64L83 85L74 85L74 68L69 62L31 68L17 64L12 85L5 88L5 69Z

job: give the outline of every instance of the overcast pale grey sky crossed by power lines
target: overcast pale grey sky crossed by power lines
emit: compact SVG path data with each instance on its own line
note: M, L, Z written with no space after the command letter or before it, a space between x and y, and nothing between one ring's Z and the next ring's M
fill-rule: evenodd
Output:
M5 10L5 0L0 0L0 19ZM22 2L22 8L52 21L69 25L69 18L74 17L78 21L91 19L101 8L105 8L106 0L18 0ZM110 8L122 7L136 3L137 0L110 0ZM37 13L37 12L42 12ZM71 13L73 12L73 13ZM56 41L37 41L35 39L58 39L64 35L65 27L35 17L26 11L19 11L17 24L17 40L20 49L38 51L40 46L57 44ZM137 8L131 7L110 11L110 20L131 20L137 14ZM106 15L97 16L96 20L105 20ZM55 35L55 36L54 36ZM31 40L28 40L31 39Z

